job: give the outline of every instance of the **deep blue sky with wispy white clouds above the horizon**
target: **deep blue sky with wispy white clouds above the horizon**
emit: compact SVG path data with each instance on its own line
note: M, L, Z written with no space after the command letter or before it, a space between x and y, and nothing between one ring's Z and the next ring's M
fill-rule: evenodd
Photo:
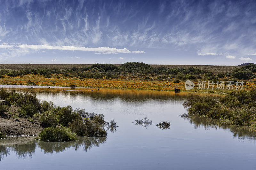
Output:
M253 0L0 0L0 63L255 60Z

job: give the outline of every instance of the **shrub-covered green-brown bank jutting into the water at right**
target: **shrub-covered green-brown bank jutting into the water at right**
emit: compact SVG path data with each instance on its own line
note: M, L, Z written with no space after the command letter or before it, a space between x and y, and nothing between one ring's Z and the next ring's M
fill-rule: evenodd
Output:
M210 96L193 96L185 101L188 115L226 120L234 125L256 127L256 89L233 91L216 100Z

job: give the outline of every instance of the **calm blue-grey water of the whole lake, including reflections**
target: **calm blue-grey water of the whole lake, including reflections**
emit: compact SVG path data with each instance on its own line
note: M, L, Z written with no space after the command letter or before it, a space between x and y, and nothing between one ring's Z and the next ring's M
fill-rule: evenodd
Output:
M186 113L183 102L194 93L92 88L27 88L1 85L55 105L85 108L115 119L119 128L107 138L79 137L76 142L47 143L34 137L0 140L0 169L244 169L256 168L256 133L249 128ZM62 91L66 89L66 91ZM205 94L199 94L205 95ZM221 95L215 95L221 97ZM153 125L136 125L148 117ZM156 127L171 122L170 129Z

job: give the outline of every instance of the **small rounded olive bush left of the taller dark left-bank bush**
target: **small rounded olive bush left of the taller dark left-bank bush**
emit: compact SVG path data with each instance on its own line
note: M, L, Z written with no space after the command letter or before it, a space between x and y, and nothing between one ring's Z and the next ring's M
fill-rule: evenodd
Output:
M58 119L54 114L44 112L39 116L39 121L43 127L56 127L58 125Z

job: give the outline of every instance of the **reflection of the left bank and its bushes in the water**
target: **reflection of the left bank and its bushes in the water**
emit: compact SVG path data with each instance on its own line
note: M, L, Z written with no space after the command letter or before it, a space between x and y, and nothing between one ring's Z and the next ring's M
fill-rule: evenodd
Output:
M43 142L35 140L34 136L12 137L0 140L0 161L10 155L16 154L16 158L31 158L35 154L36 147L41 148L44 153L62 152L68 148L75 150L90 150L92 147L99 147L101 143L107 141L107 137L77 137L75 142Z

